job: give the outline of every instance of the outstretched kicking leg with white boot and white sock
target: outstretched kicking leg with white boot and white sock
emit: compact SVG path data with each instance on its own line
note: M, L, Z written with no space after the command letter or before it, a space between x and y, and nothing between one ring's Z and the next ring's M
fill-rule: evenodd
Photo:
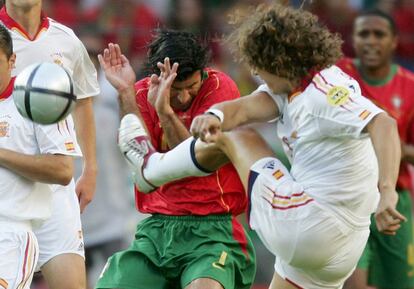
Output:
M151 192L184 177L208 175L229 160L247 189L251 166L257 160L273 156L266 142L250 128L223 133L216 144L190 137L167 153L158 153L151 146L141 120L134 114L121 120L118 141L135 184L142 192Z

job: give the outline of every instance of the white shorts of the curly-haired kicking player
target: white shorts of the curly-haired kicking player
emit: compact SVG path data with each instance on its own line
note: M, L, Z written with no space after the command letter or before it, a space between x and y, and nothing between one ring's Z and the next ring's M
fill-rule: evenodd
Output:
M249 224L276 256L275 271L299 288L342 288L355 269L369 226L355 227L308 196L275 158L249 176Z

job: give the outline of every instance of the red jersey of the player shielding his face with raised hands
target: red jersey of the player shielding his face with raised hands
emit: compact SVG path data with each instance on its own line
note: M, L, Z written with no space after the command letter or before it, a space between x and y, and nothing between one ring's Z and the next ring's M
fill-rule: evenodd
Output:
M198 95L186 111L176 111L187 129L197 115L212 105L240 97L236 84L226 74L206 69ZM158 115L147 101L149 78L135 84L136 102L147 125L151 142L160 152L168 151ZM244 212L247 197L236 170L228 164L206 177L191 177L168 183L150 194L135 190L136 205L140 212L165 215L209 215Z

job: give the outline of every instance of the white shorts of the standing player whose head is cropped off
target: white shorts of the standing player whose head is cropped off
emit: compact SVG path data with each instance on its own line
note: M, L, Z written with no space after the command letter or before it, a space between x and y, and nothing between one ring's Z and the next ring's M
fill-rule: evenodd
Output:
M34 230L40 248L36 271L55 256L73 253L85 258L79 201L75 183L53 186L52 215Z

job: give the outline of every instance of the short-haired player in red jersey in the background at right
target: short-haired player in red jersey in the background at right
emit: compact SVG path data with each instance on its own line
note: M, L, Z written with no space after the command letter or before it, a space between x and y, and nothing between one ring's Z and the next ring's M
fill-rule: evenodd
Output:
M414 132L414 74L392 62L397 35L394 20L387 14L374 10L357 17L353 42L357 58L343 59L338 66L359 82L364 96L397 120L402 143L397 210L408 222L401 224L396 236L386 236L378 232L372 218L368 245L346 288L367 288L367 284L377 288L414 288L414 241L407 168L408 162L414 163L414 147L410 140Z

